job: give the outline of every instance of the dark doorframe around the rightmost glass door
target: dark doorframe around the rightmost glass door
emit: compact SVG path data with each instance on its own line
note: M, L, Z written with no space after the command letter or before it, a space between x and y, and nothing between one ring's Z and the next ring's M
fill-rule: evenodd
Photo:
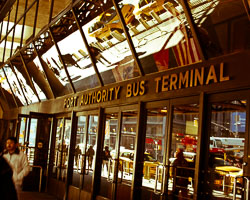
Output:
M201 94L202 95L202 94ZM201 96L200 95L200 96ZM223 102L223 101L233 101L233 100L246 100L246 129L245 129L245 146L244 147L244 158L243 163L246 163L246 165L243 165L243 176L250 176L250 130L249 130L249 122L250 122L250 90L244 89L240 91L224 91L221 93L215 93L215 94L203 94L203 112L202 112L202 118L203 121L201 126L201 147L205 147L205 150L199 151L200 155L200 162L198 163L198 181L196 181L195 185L197 186L197 197L196 199L204 198L204 195L208 192L207 189L209 186L206 184L209 184L207 181L208 179L204 176L206 175L207 171L207 165L208 165L208 157L209 157L209 143L210 143L210 130L211 130L211 116L212 116L212 110L211 105L213 103ZM201 159L202 158L202 159ZM201 161L203 160L203 162ZM198 162L198 161L196 161ZM197 164L197 163L196 163ZM197 169L197 168L196 168Z

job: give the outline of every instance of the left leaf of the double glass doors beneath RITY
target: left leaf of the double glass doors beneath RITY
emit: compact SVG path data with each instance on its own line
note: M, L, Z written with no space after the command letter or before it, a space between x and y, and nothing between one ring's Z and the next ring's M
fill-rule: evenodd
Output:
M116 135L118 131L118 113L106 114L101 170L103 178L101 178L100 195L110 199L112 184L107 180L113 180L114 178Z

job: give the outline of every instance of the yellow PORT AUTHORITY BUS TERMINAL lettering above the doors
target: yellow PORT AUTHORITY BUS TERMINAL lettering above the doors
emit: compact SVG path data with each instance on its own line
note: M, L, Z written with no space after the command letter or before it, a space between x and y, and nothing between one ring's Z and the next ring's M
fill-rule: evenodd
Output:
M225 75L224 71L225 65L224 63L220 63L208 67L188 69L184 72L163 74L150 80L131 81L125 86L117 85L111 88L85 92L80 96L65 98L64 108L98 104L120 98L143 96L147 93L147 88L152 86L155 86L154 93L161 93L229 81L230 77ZM152 81L154 81L154 84L152 84Z

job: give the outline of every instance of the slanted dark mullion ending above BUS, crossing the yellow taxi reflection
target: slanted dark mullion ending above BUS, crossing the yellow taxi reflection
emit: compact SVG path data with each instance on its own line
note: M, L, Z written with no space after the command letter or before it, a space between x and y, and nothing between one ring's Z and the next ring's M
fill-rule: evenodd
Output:
M140 76L144 76L145 73L144 73L144 71L143 71L143 68L142 68L140 59L139 59L139 57L138 57L138 55L137 55L137 52L136 52L136 49L135 49L135 47L134 47L132 38L131 38L131 36L130 36L130 34L129 34L129 32L128 32L128 29L127 29L125 20L124 20L124 18L123 18L121 9L119 8L118 2L117 2L116 0L112 0L112 2L113 2L113 5L114 5L114 7L115 7L115 10L116 10L116 12L117 12L117 15L118 15L118 17L119 17L119 19L120 19L120 22L121 22L121 24L122 24L122 29L123 29L124 34L125 34L125 36L126 36L126 39L127 39L127 42L128 42L129 48L130 48L130 51L131 51L131 53L132 53L132 56L133 56L133 58L134 58L135 64L136 64L136 66L137 66L138 69L139 69Z

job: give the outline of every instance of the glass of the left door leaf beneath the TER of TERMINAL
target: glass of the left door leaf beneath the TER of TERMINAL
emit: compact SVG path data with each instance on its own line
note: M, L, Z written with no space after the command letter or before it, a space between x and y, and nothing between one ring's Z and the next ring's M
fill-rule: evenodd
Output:
M145 187L155 187L155 176L158 166L159 176L157 177L157 189L161 189L163 172L163 151L165 142L165 130L167 123L167 109L148 110L147 128L144 153L144 168L142 185Z

